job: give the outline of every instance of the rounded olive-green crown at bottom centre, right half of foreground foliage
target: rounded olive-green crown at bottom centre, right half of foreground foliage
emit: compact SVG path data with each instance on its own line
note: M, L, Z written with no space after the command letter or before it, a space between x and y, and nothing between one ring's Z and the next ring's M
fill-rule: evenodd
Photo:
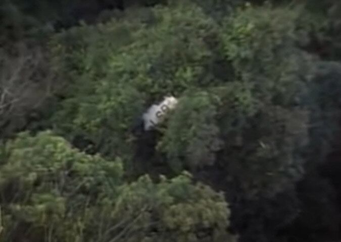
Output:
M119 241L233 241L226 231L229 211L222 194L202 184L193 186L187 174L153 184L140 177L124 188L118 217L134 219L134 238Z

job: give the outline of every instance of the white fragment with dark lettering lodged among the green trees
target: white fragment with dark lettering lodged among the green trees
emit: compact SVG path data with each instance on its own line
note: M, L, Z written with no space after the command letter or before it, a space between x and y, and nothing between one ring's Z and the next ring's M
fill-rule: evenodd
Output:
M169 110L176 107L178 103L177 98L173 96L166 96L159 104L153 104L146 112L143 113L144 130L148 131L156 125L163 122L165 115Z

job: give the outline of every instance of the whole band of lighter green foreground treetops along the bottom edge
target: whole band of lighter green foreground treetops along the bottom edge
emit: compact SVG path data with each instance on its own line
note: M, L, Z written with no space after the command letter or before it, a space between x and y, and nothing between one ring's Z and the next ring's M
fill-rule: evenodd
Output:
M86 155L48 131L20 133L1 157L0 241L226 241L229 235L223 196L192 184L188 174L126 184L119 159Z

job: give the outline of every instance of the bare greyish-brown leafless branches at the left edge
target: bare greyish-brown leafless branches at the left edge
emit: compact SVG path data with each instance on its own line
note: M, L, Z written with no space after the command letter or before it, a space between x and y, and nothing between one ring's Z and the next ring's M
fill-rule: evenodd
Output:
M0 48L0 133L39 108L54 91L55 76L40 47ZM25 122L25 120L24 120ZM19 122L18 122L19 123ZM13 127L12 127L13 129ZM1 136L1 134L0 134Z

